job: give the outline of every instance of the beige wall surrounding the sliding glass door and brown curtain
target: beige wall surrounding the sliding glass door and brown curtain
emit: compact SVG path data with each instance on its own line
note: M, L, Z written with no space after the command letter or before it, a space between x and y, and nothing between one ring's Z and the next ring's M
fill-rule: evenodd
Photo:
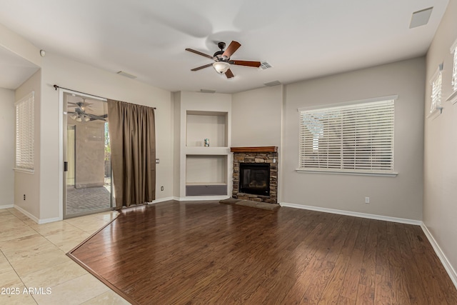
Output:
M54 54L46 54L42 61L41 106L41 219L61 216L59 191L59 91L54 84L87 94L134 104L154 106L156 109L156 199L173 194L173 118L171 93L115 73L103 71ZM160 191L164 186L164 191Z

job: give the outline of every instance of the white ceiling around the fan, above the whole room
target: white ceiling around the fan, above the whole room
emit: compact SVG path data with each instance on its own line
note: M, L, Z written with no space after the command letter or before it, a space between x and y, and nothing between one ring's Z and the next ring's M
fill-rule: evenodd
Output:
M0 0L0 24L47 54L125 71L169 91L233 93L426 54L448 0ZM426 26L411 14L433 6ZM241 43L226 79L209 67L216 43ZM0 56L4 56L0 52ZM3 69L4 61L0 61ZM119 76L121 77L121 76ZM0 84L2 86L2 84Z

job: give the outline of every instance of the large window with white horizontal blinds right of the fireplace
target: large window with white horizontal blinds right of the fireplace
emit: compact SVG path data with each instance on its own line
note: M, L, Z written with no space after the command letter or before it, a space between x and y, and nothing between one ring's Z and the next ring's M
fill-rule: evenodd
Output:
M393 172L393 99L299 112L298 171Z

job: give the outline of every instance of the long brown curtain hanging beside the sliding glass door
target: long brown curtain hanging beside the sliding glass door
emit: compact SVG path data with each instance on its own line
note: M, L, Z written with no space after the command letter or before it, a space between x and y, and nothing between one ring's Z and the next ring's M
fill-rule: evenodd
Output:
M116 209L156 199L154 109L108 100Z

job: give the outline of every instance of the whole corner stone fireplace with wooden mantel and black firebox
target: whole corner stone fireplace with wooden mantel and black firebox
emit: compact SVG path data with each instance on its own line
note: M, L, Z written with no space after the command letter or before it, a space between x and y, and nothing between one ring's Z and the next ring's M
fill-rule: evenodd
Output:
M232 147L236 199L278 202L278 147Z

